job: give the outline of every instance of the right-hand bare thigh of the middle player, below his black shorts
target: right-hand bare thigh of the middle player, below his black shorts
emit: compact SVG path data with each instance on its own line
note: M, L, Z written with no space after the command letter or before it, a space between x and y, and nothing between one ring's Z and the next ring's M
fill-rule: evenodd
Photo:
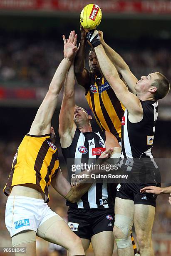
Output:
M112 256L114 235L112 231L103 231L92 236L94 256Z

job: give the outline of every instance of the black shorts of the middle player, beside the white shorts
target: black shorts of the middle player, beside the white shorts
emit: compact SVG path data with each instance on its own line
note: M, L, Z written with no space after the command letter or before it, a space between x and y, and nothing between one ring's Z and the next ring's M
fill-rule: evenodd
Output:
M80 238L91 240L103 231L113 231L114 209L75 209L69 207L68 225Z

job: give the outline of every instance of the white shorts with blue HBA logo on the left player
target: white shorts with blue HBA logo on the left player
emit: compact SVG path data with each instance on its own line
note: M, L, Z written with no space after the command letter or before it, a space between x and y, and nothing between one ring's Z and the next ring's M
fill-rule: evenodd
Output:
M23 230L37 232L42 223L55 215L57 214L42 199L9 196L5 209L5 225L12 237Z

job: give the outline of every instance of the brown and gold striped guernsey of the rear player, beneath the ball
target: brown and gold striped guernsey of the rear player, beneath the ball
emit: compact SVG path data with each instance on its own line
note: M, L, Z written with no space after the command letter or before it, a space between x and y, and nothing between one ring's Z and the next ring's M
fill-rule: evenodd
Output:
M90 84L86 89L86 99L103 131L110 131L121 141L121 120L124 116L124 105L116 97L109 82L104 77L90 74Z

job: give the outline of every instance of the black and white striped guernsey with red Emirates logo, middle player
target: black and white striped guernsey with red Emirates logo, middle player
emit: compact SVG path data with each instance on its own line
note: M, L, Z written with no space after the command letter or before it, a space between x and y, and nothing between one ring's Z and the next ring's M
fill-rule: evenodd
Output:
M105 150L105 131L82 133L77 128L73 141L68 148L62 148L62 154L65 161L74 159L74 164L89 163L90 159L97 159ZM68 166L69 176L73 172L71 166ZM77 170L75 174L81 172ZM69 179L70 179L69 177ZM116 184L106 184L94 182L88 192L86 192L76 203L67 201L66 205L79 209L104 209L114 207L114 196Z

